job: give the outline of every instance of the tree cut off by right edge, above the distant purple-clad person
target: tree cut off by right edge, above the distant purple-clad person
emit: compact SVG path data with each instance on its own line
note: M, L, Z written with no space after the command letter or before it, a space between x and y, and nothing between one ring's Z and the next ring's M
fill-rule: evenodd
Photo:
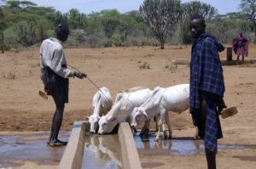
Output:
M245 14L247 20L251 20L254 25L254 42L256 42L256 0L241 0L241 13Z

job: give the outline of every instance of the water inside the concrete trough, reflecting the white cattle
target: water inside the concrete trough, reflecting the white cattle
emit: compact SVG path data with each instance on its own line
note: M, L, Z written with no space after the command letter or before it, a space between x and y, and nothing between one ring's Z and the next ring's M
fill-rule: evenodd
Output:
M84 139L84 157L81 168L122 168L117 134L88 135Z

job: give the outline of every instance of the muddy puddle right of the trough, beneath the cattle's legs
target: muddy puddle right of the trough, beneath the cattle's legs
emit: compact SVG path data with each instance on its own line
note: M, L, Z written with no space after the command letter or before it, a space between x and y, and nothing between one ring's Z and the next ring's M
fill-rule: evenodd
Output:
M150 132L148 137L140 137L139 132L134 136L139 155L205 155L205 146L201 139L161 138L158 142L155 142L154 138L154 132ZM253 147L249 145L218 144L218 149L253 149Z

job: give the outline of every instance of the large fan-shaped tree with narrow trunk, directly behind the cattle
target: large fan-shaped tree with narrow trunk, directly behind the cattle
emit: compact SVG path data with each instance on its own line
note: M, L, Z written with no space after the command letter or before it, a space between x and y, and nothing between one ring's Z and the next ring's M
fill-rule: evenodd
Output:
M180 0L144 0L140 14L164 49L166 38L181 19L183 7Z

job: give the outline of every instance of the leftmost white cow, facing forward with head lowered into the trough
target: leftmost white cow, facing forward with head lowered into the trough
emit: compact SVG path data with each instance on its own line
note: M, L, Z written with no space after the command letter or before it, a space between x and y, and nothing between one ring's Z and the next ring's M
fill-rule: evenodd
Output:
M102 115L106 115L111 109L113 99L107 87L101 87L92 99L93 114L87 116L90 122L90 133L96 133L98 121Z

